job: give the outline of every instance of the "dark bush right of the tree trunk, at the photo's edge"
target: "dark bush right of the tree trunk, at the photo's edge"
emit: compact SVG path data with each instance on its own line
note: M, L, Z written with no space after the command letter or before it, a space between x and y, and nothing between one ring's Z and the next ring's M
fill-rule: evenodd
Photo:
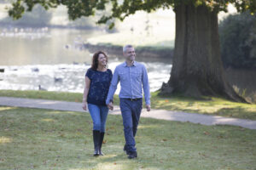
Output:
M229 15L220 22L219 37L226 67L256 68L256 14Z

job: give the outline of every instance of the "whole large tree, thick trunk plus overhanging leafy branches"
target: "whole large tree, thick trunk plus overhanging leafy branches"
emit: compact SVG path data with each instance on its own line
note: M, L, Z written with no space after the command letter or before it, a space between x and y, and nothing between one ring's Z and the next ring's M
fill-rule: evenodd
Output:
M103 14L99 24L113 19L122 21L139 10L149 13L158 8L173 8L176 13L176 38L172 72L160 94L223 96L245 101L224 77L218 39L218 12L226 11L229 3L233 3L239 12L255 12L254 0L17 0L9 9L9 15L18 19L25 10L32 10L35 3L46 9L66 5L71 20L94 15L96 10L103 11L111 3L112 14ZM112 22L110 27L113 26Z

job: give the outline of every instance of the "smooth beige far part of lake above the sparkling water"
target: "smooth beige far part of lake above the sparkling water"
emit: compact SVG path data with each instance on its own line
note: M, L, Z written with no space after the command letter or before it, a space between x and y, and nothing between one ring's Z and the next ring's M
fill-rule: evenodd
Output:
M22 32L20 32L22 31ZM51 65L90 62L90 53L74 48L95 31L64 29L0 30L0 65Z

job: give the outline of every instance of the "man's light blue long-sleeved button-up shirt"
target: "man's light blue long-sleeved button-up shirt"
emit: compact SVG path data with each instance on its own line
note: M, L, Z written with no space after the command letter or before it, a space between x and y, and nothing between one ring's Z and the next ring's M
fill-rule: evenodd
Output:
M150 105L148 73L144 65L134 61L133 65L128 66L124 62L115 68L106 99L107 105L110 100L113 100L113 94L119 82L121 85L119 98L143 98L144 92L146 105Z

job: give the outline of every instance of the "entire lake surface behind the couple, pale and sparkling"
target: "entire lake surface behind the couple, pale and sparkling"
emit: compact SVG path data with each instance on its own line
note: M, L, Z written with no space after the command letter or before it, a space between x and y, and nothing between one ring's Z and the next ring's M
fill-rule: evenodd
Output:
M102 31L49 28L0 28L0 89L83 93L84 74L92 54L79 44ZM114 71L124 60L109 55L108 68ZM137 60L139 56L137 56ZM148 69L150 90L160 88L170 77L172 65L158 59L143 59ZM119 87L116 93L119 93Z

